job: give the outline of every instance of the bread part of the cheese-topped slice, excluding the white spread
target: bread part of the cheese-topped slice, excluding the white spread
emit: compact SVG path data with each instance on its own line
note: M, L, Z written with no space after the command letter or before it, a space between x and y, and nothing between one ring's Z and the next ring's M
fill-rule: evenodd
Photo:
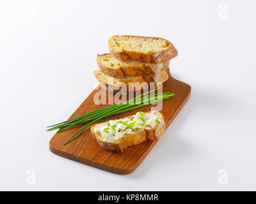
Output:
M154 113L153 113L154 112ZM148 113L153 113L157 115L157 119L159 120L154 128L135 128L132 134L125 134L124 136L116 139L111 140L111 138L104 138L100 133L99 129L101 127L108 127L106 124L108 122L102 122L100 124L95 124L91 126L91 132L93 135L93 138L97 140L99 145L106 150L112 151L112 152L125 152L127 150L127 147L132 145L138 145L141 142L145 142L147 140L154 141L159 140L159 138L163 135L165 131L165 122L164 117L160 112L152 111ZM146 113L143 113L146 114ZM129 117L134 117L134 115L131 115ZM125 119L125 118L124 118ZM123 119L121 119L123 120ZM109 120L110 122L111 120ZM112 120L115 121L115 120ZM115 135L113 133L113 138L115 138Z

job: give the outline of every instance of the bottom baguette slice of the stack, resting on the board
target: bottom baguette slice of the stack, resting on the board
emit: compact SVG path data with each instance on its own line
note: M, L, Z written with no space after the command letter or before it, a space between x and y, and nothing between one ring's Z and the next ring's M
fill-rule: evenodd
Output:
M136 91L148 89L148 84L150 82L154 82L154 87L157 87L160 84L163 84L163 82L166 82L168 80L168 73L164 70L161 71L157 75L146 75L145 77L142 76L127 76L127 77L111 77L109 75L106 75L103 71L100 69L95 70L94 72L95 77L99 82L104 84L107 88L107 90L112 90L114 92L119 91L120 89L125 90L125 92L129 91L129 85L132 87L132 91L134 89ZM133 83L133 84L131 84ZM131 86L133 85L133 86ZM152 85L152 84L150 84ZM130 90L131 91L131 90Z

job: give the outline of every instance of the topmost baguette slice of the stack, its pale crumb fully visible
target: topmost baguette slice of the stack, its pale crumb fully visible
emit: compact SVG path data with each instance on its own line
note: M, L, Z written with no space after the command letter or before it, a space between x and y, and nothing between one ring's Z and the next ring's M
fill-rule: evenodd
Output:
M112 36L109 51L120 61L162 63L178 55L176 48L163 38L143 36Z

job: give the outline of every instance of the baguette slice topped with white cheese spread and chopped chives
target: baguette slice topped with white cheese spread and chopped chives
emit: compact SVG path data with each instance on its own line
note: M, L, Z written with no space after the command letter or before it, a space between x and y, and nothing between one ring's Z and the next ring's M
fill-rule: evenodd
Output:
M143 126L140 126L140 124L143 123L140 119L141 114L144 115L143 118L145 119L145 125ZM131 120L132 117L134 117L133 120ZM156 119L158 121L156 121ZM125 122L125 124L118 124L120 120ZM132 121L134 122L134 126L127 128L126 124L130 125ZM116 126L114 128L115 130L112 128L113 126ZM159 140L164 130L164 117L157 111L147 113L138 112L135 115L129 116L129 118L125 117L124 119L109 120L108 122L91 126L93 138L97 140L103 149L112 152L125 152L129 146L138 145L147 140Z

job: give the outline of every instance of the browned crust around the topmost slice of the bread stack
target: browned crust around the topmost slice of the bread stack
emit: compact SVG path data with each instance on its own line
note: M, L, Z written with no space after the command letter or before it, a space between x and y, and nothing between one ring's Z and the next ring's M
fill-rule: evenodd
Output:
M113 37L115 36L112 36L111 38ZM131 37L131 36L124 35L124 37ZM141 38L141 36L132 36L132 37ZM161 63L164 61L170 61L172 58L177 57L178 55L177 49L168 40L166 41L168 41L169 45L165 50L162 50L159 52L143 53L143 52L137 52L137 51L131 51L131 50L124 50L124 48L122 49L122 51L117 51L113 46L111 46L111 43L110 43L111 38L109 38L108 40L109 52L120 61L132 60L132 61L140 61L140 62L147 62L147 63ZM143 37L143 38L150 39L152 37ZM156 39L165 40L163 38L156 38Z

